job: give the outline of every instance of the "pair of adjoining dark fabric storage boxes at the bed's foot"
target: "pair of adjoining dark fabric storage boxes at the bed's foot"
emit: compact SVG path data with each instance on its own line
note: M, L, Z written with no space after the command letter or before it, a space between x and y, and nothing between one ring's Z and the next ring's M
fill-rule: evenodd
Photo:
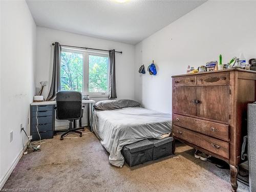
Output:
M123 157L129 166L172 155L173 137L144 139L123 147Z

